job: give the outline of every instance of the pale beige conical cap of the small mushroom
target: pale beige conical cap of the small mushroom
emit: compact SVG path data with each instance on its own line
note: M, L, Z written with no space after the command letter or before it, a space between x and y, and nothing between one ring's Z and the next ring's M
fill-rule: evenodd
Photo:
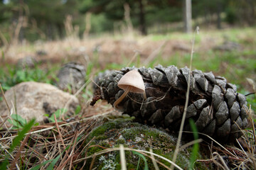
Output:
M126 90L128 86L131 86L129 91L137 94L143 94L145 92L142 75L135 69L124 74L124 76L119 80L117 86L123 90Z

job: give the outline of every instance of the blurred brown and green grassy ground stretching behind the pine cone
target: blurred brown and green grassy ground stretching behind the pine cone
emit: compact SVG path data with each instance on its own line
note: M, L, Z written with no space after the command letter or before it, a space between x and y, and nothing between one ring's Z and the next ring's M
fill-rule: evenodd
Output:
M7 90L21 81L33 80L32 74L28 74L23 79L16 75L16 63L21 58L28 56L35 58L38 62L36 67L30 70L36 70L36 72L42 70L39 81L48 83L53 83L60 67L70 61L84 64L87 67L87 82L97 73L106 69L122 69L127 66L154 67L157 64L162 64L164 67L176 65L181 68L189 66L192 41L195 36L193 69L213 72L215 75L225 77L228 82L238 86L238 92L245 95L256 90L255 33L256 28L229 28L200 30L199 34L188 35L183 33L147 35L146 37L131 34L98 35L97 38L87 37L82 40L66 38L50 42L41 40L33 43L23 42L0 49L3 51L0 59L0 83L4 90ZM104 101L97 103L94 108L90 108L88 103L92 98L92 88L87 86L85 89L78 95L82 109L77 115L77 119L84 120L83 125L86 123L91 125L90 128L80 130L80 132L88 133L99 123L95 119L88 119L90 116L99 115L99 113L104 115L114 112L114 110ZM3 101L2 95L0 99ZM247 96L247 101L251 105L252 111L255 112L256 96ZM113 114L118 115L117 112ZM50 125L55 125L55 123ZM70 128L63 128L63 132L66 130L70 130ZM74 134L73 137L70 139L77 139L78 135ZM58 143L60 142L58 141ZM76 157L78 156L80 155L76 155ZM68 154L65 157L67 158ZM57 156L53 157L53 160L56 158ZM255 158L252 159L252 162L255 162Z

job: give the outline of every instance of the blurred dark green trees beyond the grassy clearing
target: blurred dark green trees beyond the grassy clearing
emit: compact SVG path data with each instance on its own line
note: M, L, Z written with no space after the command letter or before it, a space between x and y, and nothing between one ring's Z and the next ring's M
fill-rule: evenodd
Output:
M124 24L142 35L183 30L183 4L178 0L1 0L0 46L16 38L60 40L68 35L67 22L80 38L114 33ZM255 6L255 0L192 0L193 26L254 26Z

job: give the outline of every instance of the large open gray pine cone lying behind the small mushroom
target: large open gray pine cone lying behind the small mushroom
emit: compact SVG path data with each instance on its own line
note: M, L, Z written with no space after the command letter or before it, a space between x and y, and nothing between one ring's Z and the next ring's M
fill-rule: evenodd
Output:
M142 94L129 93L119 103L122 111L135 117L139 123L168 128L178 132L186 101L188 74L187 67L175 66L154 69L125 67L121 71L106 71L96 77L95 96L91 105L98 99L107 100L113 105L124 91L117 82L132 69L142 75L146 89L146 100ZM227 83L224 77L212 72L193 70L190 95L184 129L191 131L188 120L192 118L198 132L213 137L219 142L233 142L242 135L240 128L247 127L247 101L237 93L235 85ZM238 127L239 126L239 127Z

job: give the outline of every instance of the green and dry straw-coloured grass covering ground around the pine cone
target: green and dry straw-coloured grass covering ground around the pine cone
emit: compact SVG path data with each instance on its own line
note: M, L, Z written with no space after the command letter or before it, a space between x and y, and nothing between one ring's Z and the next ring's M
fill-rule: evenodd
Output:
M203 72L213 72L215 75L225 77L230 83L237 84L238 91L242 94L253 92L252 85L247 82L246 78L256 80L256 40L252 38L255 30L256 28L232 28L221 31L201 30L200 35L196 36L195 39L195 53L193 54L192 68L201 69ZM240 43L242 50L233 52L213 50L215 45L222 44L227 38L228 40ZM87 40L74 39L45 42L41 45L20 45L18 48L10 47L11 50L6 52L4 57L0 59L0 83L4 91L22 81L41 81L54 84L60 66L72 60L82 62L87 66L86 79L90 80L90 77L94 77L97 72L102 72L105 69L122 69L129 62L131 62L129 66L142 66L144 60L146 60L151 52L165 40L166 46L145 67L154 67L157 64L164 66L175 64L181 68L189 65L191 59L190 52L176 49L175 45L187 45L191 47L192 39L193 35L170 33L168 35L149 35L146 38L136 37L133 41L122 39L122 37L115 39L102 37ZM93 52L92 49L98 44L100 44L100 51ZM78 50L79 47L85 47L86 50L80 51ZM48 52L43 58L36 56L39 59L39 64L36 67L25 69L15 67L18 58L31 53L35 54L36 50L46 50ZM134 50L138 50L139 55L132 60L135 54ZM44 62L47 60L49 62ZM92 155L87 155L85 159L82 159L85 156L82 153L86 153L90 144L93 144L100 135L94 134L95 138L88 141L87 139L90 137L88 135L89 132L97 125L105 123L108 119L116 118L118 113L114 112L104 102L96 103L94 108L88 106L87 103L92 98L92 89L88 85L85 86L85 89L78 94L78 98L81 101L80 108L76 111L75 120L70 123L55 122L55 119L52 117L50 123L26 128L26 132L28 130L30 132L27 135L24 135L26 132L23 133L23 136L18 140L18 144L12 142L15 136L19 136L18 130L0 131L0 162L1 165L7 164L7 166L4 166L4 169L6 167L11 169L13 163L20 169L76 169L78 168L78 163L85 160L87 162L89 160L92 161ZM0 99L3 100L3 98ZM247 96L247 101L252 106L252 112L255 112L255 95ZM253 124L256 119L254 113L250 114L252 114L250 121ZM25 128L28 125L20 118L16 120L16 125L21 125L18 128ZM231 148L232 153L235 152L236 154L234 157L218 145L213 146L209 144L208 147L211 148L212 157L209 157L208 160L198 159L196 163L208 162L208 164L213 163L221 167L223 166L221 157L228 157L228 161L233 162L237 167L255 167L255 132L253 128L243 132L245 133L244 140L247 142L249 148L247 151L243 151L240 147L233 147ZM123 142L119 141L119 145L122 145ZM14 145L16 147L12 147ZM119 152L119 147L106 147L110 147L110 145L102 143L101 146L97 146L94 152L95 155L104 156L107 152ZM230 147L227 148L230 149ZM151 159L152 157L151 152L126 147L124 147L124 150L126 150L125 153L127 151L134 152L134 155L140 158L140 162L143 165L145 165L145 159ZM15 159L15 155L18 154L20 154L20 157ZM159 155L160 153L155 153L154 157L159 157ZM208 153L208 155L210 154ZM127 155L125 156L126 162L129 163ZM6 157L8 157L7 161ZM166 160L166 162L169 161L169 159ZM145 169L145 166L139 167Z

